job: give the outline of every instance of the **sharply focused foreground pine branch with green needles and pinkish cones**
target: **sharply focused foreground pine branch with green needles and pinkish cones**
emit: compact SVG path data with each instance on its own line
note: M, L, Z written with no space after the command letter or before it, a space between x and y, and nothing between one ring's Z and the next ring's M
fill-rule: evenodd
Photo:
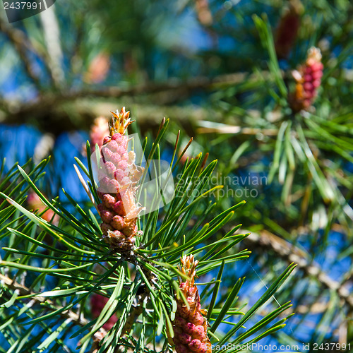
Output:
M159 352L161 349L172 351L175 345L177 352L205 353L212 352L211 337L219 345L232 342L234 348L230 352L237 352L240 343L251 345L285 325L286 318L273 321L290 307L289 302L251 325L240 336L236 335L292 273L293 264L246 313L234 306L244 278L237 281L225 298L217 295L225 264L248 258L250 252L227 254L228 249L249 235L235 234L239 226L221 239L208 242L243 204L233 205L210 222L204 222L216 205L213 201L205 202L205 198L220 189L215 186L203 191L215 161L205 166L201 154L187 160L181 169L180 191L162 218L159 209L138 217L143 205L138 207L136 193L138 180L143 179L143 168L135 164L136 152L128 150L128 136L124 134L131 124L128 116L129 112L124 108L113 113L110 135L104 137L101 148L96 145L96 152L100 154L98 182L92 174L90 157L88 169L77 160L89 177L86 183L76 167L83 188L97 209L95 212L92 205L81 207L65 191L68 201L78 211L77 217L59 201L45 198L36 182L49 159L34 168L30 164L14 166L4 176L2 186L9 185L0 193L4 198L1 210L6 224L4 236L8 237L9 243L3 248L6 255L0 262L1 268L6 269L6 274L1 275L5 299L1 311L4 325L1 327L11 344L10 351L25 352L36 348L70 352L70 339L76 338L80 352L127 349ZM168 121L164 119L149 159L160 159L160 140L167 125ZM87 143L88 156L90 150ZM173 160L171 168L177 167ZM25 169L30 172L26 173ZM146 166L145 174L148 169ZM18 181L19 177L22 177L21 181ZM44 210L24 207L29 189L36 193ZM163 193L163 189L160 192ZM148 202L154 201L148 199ZM190 226L198 209L203 210L203 217ZM46 220L44 215L48 210L52 211L53 217ZM54 215L59 217L57 225L53 222ZM46 239L47 234L51 236L50 241ZM177 267L179 259L181 268ZM41 265L35 265L38 261ZM198 275L218 270L217 278L203 283L206 287L201 295L196 287L196 265ZM40 275L35 277L35 274ZM49 276L54 277L52 288L48 286ZM201 296L203 302L210 300L208 311L201 309ZM218 326L227 323L225 319L229 320L233 315L239 316L237 325L231 325L223 335L217 333ZM212 325L209 326L208 321ZM37 335L39 327L41 333ZM77 337L80 337L79 341Z

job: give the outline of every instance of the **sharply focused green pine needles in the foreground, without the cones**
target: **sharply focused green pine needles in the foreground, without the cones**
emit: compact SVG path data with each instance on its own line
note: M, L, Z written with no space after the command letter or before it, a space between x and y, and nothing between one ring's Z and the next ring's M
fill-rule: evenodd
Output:
M150 148L152 159L160 158L159 142L166 126L163 124L160 128ZM90 145L87 147L89 152ZM289 308L289 303L268 313L245 331L242 329L244 323L273 297L295 265L289 265L249 309L245 310L244 304L240 309L238 300L244 278L237 281L229 294L220 295L225 265L248 258L250 251L229 252L249 235L234 234L239 226L217 236L242 202L205 222L216 206L208 194L220 188L216 186L202 192L215 169L215 161L203 167L201 155L198 155L177 167L181 172L179 192L166 210L155 210L140 218L139 226L144 234L137 239L133 258L113 253L102 241L100 221L97 212L92 211L92 205L81 208L65 193L75 210L72 213L59 201L48 201L44 197L35 183L48 161L44 160L35 168L17 167L2 177L11 183L3 188L4 191L10 194L9 190L17 190L11 192L11 197L0 193L4 198L1 224L8 237L8 245L3 247L6 253L0 261L3 279L0 310L4 323L1 334L8 342L8 352L58 352L59 347L63 352L71 352L70 341L74 339L80 352L88 352L92 349L92 337L99 335L114 313L118 320L100 342L98 352L114 352L117 346L131 347L138 352L172 351L166 338L168 332L171 337L173 335L172 321L177 310L174 295L183 295L176 278L178 275L185 277L177 263L181 255L190 253L200 259L198 275L213 277L207 283L201 283L205 285L201 297L203 305L208 306L214 343L256 342L283 327L285 318L277 323L273 321ZM95 194L97 186L90 164L88 169L81 162L78 164L88 174ZM59 216L58 225L25 208L24 195L29 188L37 193L46 209ZM202 216L196 220L196 215ZM218 271L217 276L215 271ZM94 293L109 300L100 316L92 319L88 299ZM230 325L229 329L220 330L221 323ZM38 328L40 335L36 334ZM238 330L241 335L236 335ZM229 352L237 352L237 349Z

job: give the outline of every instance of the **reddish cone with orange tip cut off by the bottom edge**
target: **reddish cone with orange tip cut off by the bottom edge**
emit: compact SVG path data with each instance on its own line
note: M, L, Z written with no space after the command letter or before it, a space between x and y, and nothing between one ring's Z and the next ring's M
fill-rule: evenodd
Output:
M177 299L177 312L173 323L175 350L177 353L210 353L210 340L207 335L208 322L201 313L201 301L198 288L195 284L196 265L192 255L180 259L182 273L189 277L182 282L179 279L179 288L183 292L189 306L182 298Z

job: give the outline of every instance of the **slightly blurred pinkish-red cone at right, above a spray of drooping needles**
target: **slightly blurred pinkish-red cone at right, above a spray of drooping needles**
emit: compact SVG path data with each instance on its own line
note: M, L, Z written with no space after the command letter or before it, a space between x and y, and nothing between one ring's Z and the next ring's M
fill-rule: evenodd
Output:
M296 86L294 93L289 95L289 104L294 112L309 109L316 98L317 90L321 85L321 76L323 76L320 49L311 47L305 64L292 74Z

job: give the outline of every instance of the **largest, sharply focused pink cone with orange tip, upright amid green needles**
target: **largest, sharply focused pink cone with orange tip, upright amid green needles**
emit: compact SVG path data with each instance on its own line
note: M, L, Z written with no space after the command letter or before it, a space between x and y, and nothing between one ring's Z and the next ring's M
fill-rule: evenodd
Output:
M112 114L110 136L104 138L101 149L98 196L102 203L98 210L103 221L104 241L116 251L128 251L133 248L138 235L135 185L142 173L134 159L129 158L128 137L124 136L128 124L131 124L129 112L123 108L119 115ZM131 214L133 217L128 217Z

